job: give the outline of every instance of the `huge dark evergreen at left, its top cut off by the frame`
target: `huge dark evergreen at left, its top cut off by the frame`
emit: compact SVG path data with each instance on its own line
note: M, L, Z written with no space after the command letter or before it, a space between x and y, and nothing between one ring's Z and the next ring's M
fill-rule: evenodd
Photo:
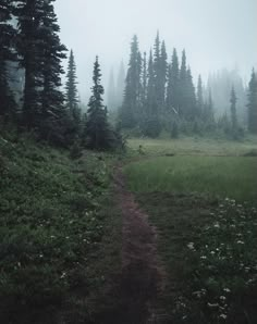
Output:
M20 64L25 70L23 122L28 129L37 126L48 138L49 132L60 130L59 122L64 113L60 86L64 73L61 60L66 49L58 35L60 27L53 1L17 0L15 9Z

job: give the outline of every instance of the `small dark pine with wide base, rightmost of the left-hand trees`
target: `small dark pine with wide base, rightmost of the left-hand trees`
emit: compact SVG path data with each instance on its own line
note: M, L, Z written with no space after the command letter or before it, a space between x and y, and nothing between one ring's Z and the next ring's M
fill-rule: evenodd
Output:
M86 122L86 141L90 149L109 149L113 146L114 137L107 121L107 108L102 104L105 89L101 82L98 57L94 64L91 97L88 102Z

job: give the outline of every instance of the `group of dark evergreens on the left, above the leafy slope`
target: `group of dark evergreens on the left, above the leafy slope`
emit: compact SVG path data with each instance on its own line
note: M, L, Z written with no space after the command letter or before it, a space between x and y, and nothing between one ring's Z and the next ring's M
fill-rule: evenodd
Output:
M39 139L91 149L121 145L120 135L108 123L102 104L98 58L94 65L88 111L82 114L77 96L76 65L70 52L66 83L62 61L66 47L61 42L54 0L0 0L0 117L3 125L34 132ZM23 71L21 100L15 100L12 68Z

